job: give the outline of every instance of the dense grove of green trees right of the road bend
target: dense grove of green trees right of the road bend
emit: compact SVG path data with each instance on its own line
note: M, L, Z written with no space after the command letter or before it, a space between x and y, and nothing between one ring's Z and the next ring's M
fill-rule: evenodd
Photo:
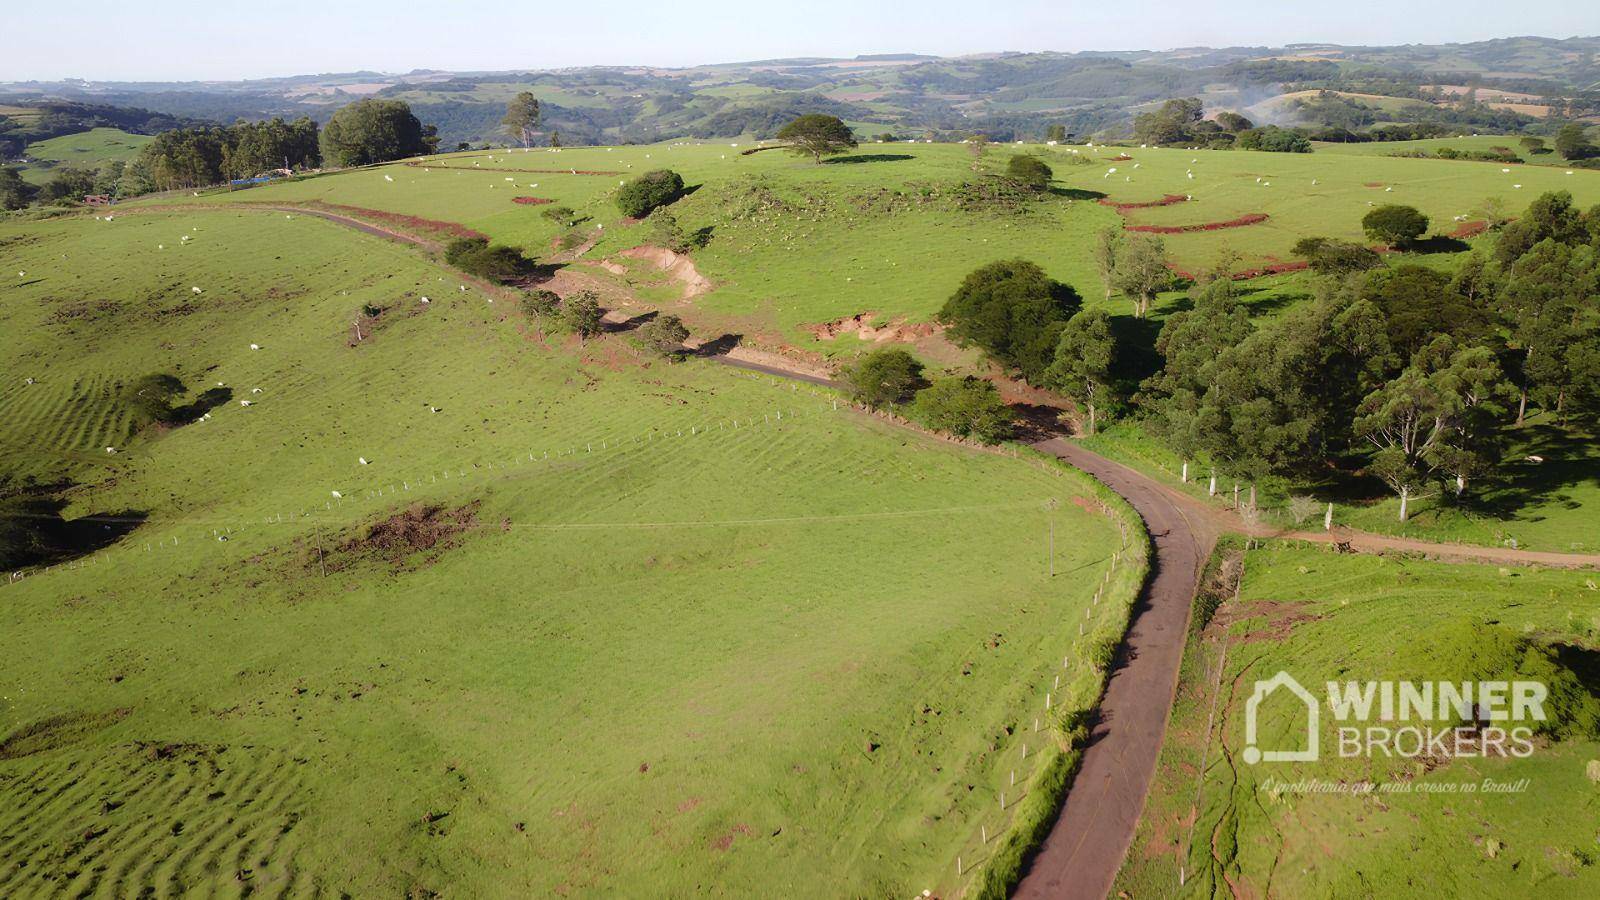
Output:
M1392 208L1366 229L1406 247L1427 227L1418 218ZM1394 492L1403 520L1426 492L1466 498L1531 415L1600 415L1600 207L1546 194L1454 272L1301 243L1331 256L1309 303L1253 320L1224 259L1165 319L1152 359L1138 319L1178 277L1160 239L1115 229L1096 261L1107 298L1126 293L1131 315L1083 309L1072 288L1011 259L968 275L939 320L958 344L1072 399L1088 431L1138 416L1186 461L1186 480L1203 464L1213 492L1218 477L1251 485L1250 506L1267 476L1365 474ZM915 408L920 368L890 354L904 351L869 354L846 383L861 402Z

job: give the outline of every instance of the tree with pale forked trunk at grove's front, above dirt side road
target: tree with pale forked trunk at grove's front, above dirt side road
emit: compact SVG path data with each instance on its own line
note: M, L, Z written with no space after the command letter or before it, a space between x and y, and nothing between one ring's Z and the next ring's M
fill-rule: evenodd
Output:
M1402 522L1437 471L1458 472L1458 490L1464 490L1466 472L1482 468L1475 413L1493 400L1499 381L1486 348L1456 348L1440 336L1398 378L1362 400L1354 429L1378 448L1371 468L1400 496Z

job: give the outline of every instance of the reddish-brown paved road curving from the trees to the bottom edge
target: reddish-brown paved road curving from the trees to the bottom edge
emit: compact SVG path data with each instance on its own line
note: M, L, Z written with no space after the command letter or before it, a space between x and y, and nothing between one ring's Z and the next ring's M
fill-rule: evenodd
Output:
M1061 437L1035 447L1126 498L1155 541L1152 577L1133 607L1077 780L1016 889L1016 897L1029 900L1101 900L1128 854L1155 775L1190 601L1218 532L1210 519L1187 514L1160 485L1126 466Z

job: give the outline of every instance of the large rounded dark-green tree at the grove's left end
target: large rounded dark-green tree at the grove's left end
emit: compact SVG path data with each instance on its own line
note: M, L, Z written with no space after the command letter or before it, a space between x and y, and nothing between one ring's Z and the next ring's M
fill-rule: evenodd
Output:
M966 275L939 311L950 338L976 344L1003 365L1038 383L1054 362L1061 327L1078 296L1027 259L990 263Z

